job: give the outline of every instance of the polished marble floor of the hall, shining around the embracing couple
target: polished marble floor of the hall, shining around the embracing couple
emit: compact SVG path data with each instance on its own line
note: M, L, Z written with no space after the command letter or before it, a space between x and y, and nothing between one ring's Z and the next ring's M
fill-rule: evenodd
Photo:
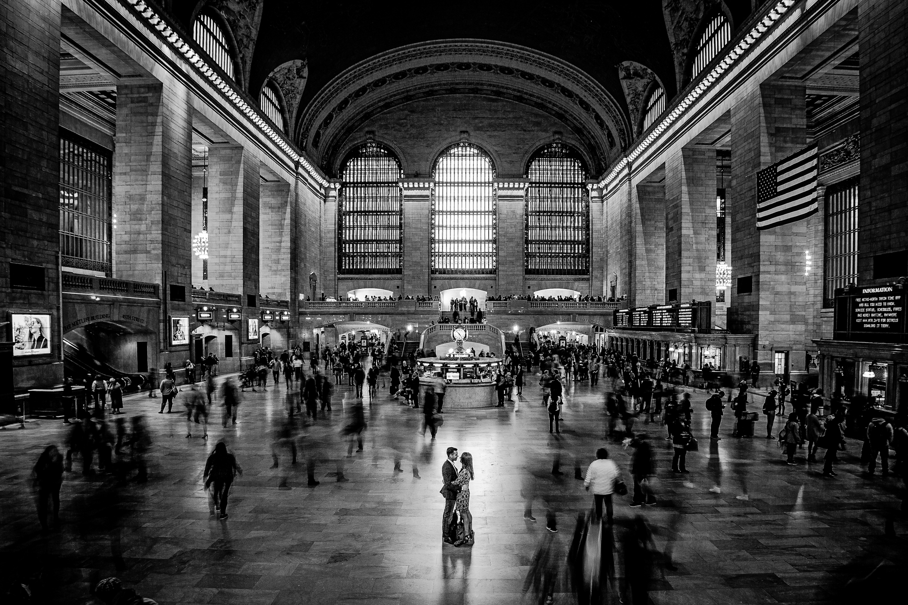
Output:
M0 431L5 578L32 582L39 602L53 603L94 602L93 582L110 575L162 604L540 602L523 590L534 553L550 540L555 560L563 561L577 513L592 504L575 465L586 469L605 444L630 482L629 452L603 438L605 385L569 387L560 435L548 434L538 389L528 387L517 413L513 404L447 410L434 440L419 434L421 410L380 389L374 401L366 399L365 451L348 458L341 428L352 388L339 386L333 410L301 427L300 464L289 464L288 450L278 447L278 468L271 468L271 452L285 418L283 384L243 394L236 426L223 428L215 410L207 442L198 425L185 437L179 401L173 414L158 415L160 399L133 395L127 414L145 415L153 434L149 482L118 487L106 475L66 473L59 532L41 532L30 469L46 444L64 443L64 424ZM616 532L639 515L655 549L671 552L676 569L656 564L651 602L838 602L838 587L878 565L906 569L902 484L861 473L857 444L844 453L838 477L824 480L820 465L806 464L803 454L800 465L785 465L774 440L729 436L730 421L723 440L709 445L705 398L694 395L702 447L688 454L691 473L668 472L671 446L661 425L637 424L652 437L658 503L630 508L627 496L617 498ZM202 487L205 459L219 440L243 469L223 522ZM449 445L475 460L472 548L439 539L440 466ZM552 473L555 460L563 474ZM308 461L321 482L316 487L307 485ZM348 482L337 481L339 471ZM710 493L716 483L721 493ZM528 502L538 522L523 518ZM558 534L546 530L548 512L557 516ZM555 602L575 602L567 584L558 582ZM609 592L603 602L617 602L617 595Z

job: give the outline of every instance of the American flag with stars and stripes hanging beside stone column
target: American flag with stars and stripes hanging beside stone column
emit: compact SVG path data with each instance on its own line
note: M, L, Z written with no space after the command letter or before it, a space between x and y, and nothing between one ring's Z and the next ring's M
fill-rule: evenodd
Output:
M756 229L772 229L816 212L816 145L756 173Z

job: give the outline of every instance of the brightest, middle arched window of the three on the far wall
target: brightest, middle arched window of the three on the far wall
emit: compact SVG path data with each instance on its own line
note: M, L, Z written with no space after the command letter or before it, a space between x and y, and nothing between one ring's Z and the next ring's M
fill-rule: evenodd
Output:
M432 273L494 274L495 168L485 151L461 142L432 174Z

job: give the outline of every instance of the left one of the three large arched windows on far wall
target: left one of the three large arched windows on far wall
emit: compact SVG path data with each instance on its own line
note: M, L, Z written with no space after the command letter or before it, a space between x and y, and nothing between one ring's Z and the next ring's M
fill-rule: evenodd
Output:
M369 141L341 172L338 273L400 273L400 161Z

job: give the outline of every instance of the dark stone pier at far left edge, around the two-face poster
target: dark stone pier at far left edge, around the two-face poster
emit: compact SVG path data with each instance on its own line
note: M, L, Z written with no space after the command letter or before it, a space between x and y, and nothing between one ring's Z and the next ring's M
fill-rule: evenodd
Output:
M17 390L50 387L63 382L56 256L60 250L60 2L6 2L0 10L0 28L4 181L0 299L5 311L51 316L47 334L51 355L16 357L12 364ZM11 283L10 262L30 266L28 277L35 278L41 289ZM9 371L7 366L4 376ZM4 379L0 413L15 411L12 388Z

